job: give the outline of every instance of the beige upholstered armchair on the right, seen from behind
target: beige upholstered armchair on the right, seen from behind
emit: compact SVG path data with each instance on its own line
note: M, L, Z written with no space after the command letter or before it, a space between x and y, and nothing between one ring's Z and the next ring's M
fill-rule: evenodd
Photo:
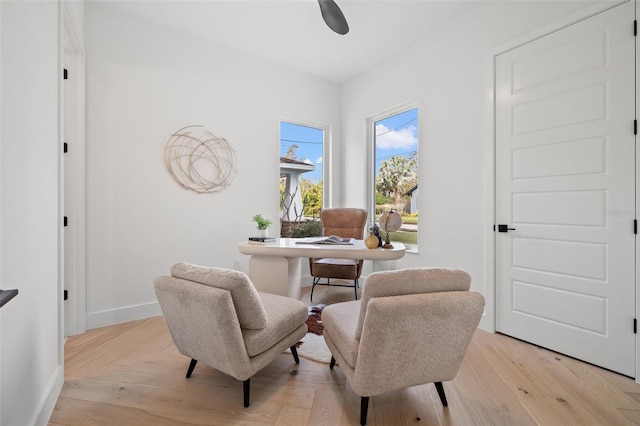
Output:
M370 274L359 301L322 311L323 336L353 391L361 397L360 423L369 397L452 380L484 310L469 291L469 274L457 269L414 268Z

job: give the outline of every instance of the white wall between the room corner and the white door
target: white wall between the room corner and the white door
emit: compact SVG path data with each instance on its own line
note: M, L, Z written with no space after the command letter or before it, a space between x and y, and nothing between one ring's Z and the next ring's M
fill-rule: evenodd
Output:
M481 326L493 329L490 53L497 46L596 2L492 2L472 9L425 39L345 84L345 158L367 147L367 118L407 102L419 108L419 252L397 267L467 270L485 294ZM342 165L343 199L366 203L366 164ZM356 201L358 202L358 201Z

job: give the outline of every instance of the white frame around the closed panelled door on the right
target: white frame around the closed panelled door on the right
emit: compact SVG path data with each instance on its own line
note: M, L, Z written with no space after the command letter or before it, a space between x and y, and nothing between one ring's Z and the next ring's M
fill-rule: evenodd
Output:
M496 57L513 50L517 47L525 45L536 39L549 35L553 32L559 31L570 25L573 25L579 21L588 19L606 10L612 9L620 4L632 1L635 4L635 18L638 19L638 0L619 0L612 2L610 0L601 0L600 2L584 8L576 13L568 15L558 21L545 25L537 30L525 34L521 37L510 40L509 42L500 45L485 55L484 61L484 76L485 76L485 93L487 93L487 100L485 102L485 128L484 128L484 141L485 151L484 160L487 167L485 168L485 194L486 194L486 209L485 209L485 313L480 320L480 328L483 330L494 332L496 331L496 232L494 225L496 224L496 104L495 104L495 61ZM630 21L630 30L633 22ZM640 65L640 49L636 42L636 105L640 99L640 90L638 88L638 66ZM637 109L637 108L636 108ZM637 117L637 116L636 116ZM637 146L636 136L636 146ZM636 149L636 170L640 167L640 156ZM640 202L638 201L640 195L640 173L636 172L636 213L639 211ZM636 214L636 218L638 215ZM636 238L636 253L640 253L640 238ZM637 256L636 256L637 257ZM636 317L638 316L638 306L640 306L640 294L638 288L638 282L640 282L640 265L636 263ZM638 371L640 371L640 339L636 336L635 344L635 380L636 383L640 383L640 377Z

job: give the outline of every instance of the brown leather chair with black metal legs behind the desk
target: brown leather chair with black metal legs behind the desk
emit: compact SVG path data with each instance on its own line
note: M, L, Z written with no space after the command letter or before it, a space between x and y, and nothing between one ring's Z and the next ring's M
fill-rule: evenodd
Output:
M344 238L361 240L364 233L364 225L367 222L367 211L354 208L323 209L320 212L322 222L322 235L337 235ZM352 280L353 290L358 298L358 279L362 273L362 259L309 259L309 272L313 277L310 300L313 301L313 290L317 285L336 285L339 287L351 287L342 284L331 284L331 278ZM320 280L326 278L326 283Z

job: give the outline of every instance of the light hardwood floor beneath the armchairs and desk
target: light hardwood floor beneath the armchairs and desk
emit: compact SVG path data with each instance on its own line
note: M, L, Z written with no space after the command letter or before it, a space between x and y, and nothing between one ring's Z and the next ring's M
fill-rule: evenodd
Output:
M251 405L244 408L241 382L204 365L186 379L188 365L162 317L73 336L49 424L358 424L359 397L339 366L329 370L305 358L296 365L283 353L251 379ZM634 380L481 330L444 388L448 408L433 385L375 396L367 424L640 425Z

